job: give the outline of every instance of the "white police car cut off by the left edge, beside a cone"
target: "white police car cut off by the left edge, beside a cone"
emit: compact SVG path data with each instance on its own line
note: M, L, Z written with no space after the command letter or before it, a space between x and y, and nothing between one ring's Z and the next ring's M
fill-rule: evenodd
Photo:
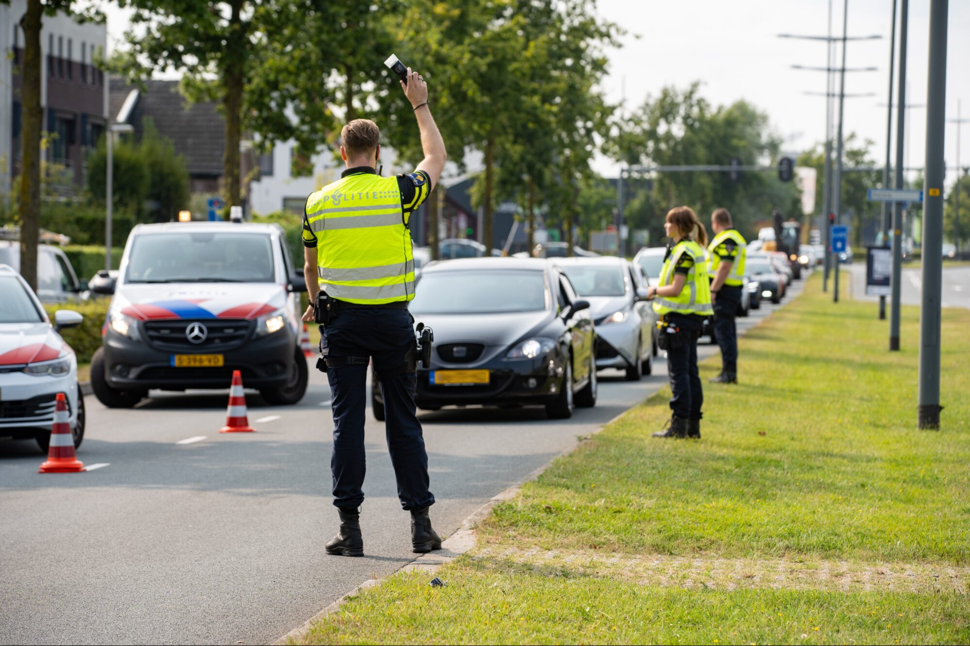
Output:
M0 437L36 439L47 451L57 393L64 393L77 448L84 437L78 360L58 332L83 317L61 309L51 325L37 295L7 265L0 265L0 303Z

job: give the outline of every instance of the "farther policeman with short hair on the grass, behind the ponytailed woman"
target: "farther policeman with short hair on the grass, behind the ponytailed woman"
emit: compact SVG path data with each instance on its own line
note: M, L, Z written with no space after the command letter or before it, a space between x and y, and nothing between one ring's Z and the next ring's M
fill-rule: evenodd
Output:
M744 265L748 242L731 223L727 209L711 213L714 239L710 252L711 302L714 305L714 335L721 347L721 374L711 383L737 383L737 327L734 318L744 289Z

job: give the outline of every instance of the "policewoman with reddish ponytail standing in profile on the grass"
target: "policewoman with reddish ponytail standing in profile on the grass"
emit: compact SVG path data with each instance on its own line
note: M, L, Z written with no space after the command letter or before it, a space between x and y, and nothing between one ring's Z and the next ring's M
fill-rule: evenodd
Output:
M659 344L666 350L670 377L670 420L655 437L700 438L704 392L697 373L697 339L704 317L711 313L710 283L704 262L707 242L694 211L676 207L663 224L671 240L663 260L660 284L650 287L654 311L661 315Z

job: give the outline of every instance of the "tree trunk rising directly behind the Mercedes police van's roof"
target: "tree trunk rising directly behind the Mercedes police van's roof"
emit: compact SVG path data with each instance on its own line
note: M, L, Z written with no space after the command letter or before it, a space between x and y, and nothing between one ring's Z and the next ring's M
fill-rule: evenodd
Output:
M240 142L242 140L242 84L244 82L245 31L240 18L242 0L233 2L229 21L225 70L225 92L222 106L226 113L226 147L222 155L222 176L226 195L226 209L242 206L242 181L240 178Z

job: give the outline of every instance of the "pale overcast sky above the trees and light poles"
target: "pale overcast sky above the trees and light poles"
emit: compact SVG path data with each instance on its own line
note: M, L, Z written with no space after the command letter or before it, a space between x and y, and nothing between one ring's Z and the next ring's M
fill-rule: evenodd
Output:
M887 99L892 1L849 1L849 35L878 34L883 39L849 44L848 67L879 70L847 76L847 93L875 92L876 96L846 100L845 132L872 140L880 163L886 149L887 110L879 104ZM114 5L106 9L113 46L127 27L127 13ZM841 36L842 2L836 0L832 11L832 32ZM625 87L626 103L634 107L647 96L656 95L664 85L685 87L701 81L703 95L713 104L745 99L767 113L772 127L786 141L787 151L801 151L824 141L824 97L804 94L806 90L824 92L824 72L792 70L791 66L824 67L825 45L779 39L777 35L824 36L828 0L598 0L598 12L630 32L622 48L609 52L610 74L602 86L610 101L619 102ZM910 1L908 103L926 103L928 16L929 0ZM955 118L956 101L961 97L962 113L970 117L970 1L950 3L949 31L947 118ZM898 43L896 53L898 57ZM832 66L837 67L839 62ZM921 167L925 110L914 108L910 114L908 166ZM970 165L970 147L966 145L970 142L970 123L965 126L963 166ZM895 139L895 126L892 132ZM948 166L955 166L955 150L956 126L949 124ZM597 170L616 175L615 166L607 160L599 160ZM948 174L948 179L952 178L953 174Z

